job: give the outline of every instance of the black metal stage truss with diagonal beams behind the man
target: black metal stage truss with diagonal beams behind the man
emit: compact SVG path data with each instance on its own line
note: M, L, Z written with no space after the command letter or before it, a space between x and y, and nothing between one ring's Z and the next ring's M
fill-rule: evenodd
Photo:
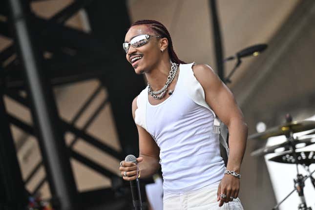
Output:
M138 136L131 117L131 102L145 87L145 82L142 76L134 74L131 66L125 61L125 54L121 49L121 42L130 25L126 2L75 0L46 20L32 11L31 4L34 1L38 0L6 0L0 5L0 35L13 41L0 52L0 106L1 119L4 119L1 121L1 125L3 125L0 148L1 151L7 152L6 156L0 156L0 187L3 185L6 189L5 199L0 200L0 205L2 205L0 209L21 209L21 206L18 207L14 203L25 205L27 193L28 195L36 194L45 182L49 183L52 200L56 200L55 204L61 210L97 209L98 202L105 203L107 208L112 207L110 209L113 210L124 209L126 205L130 205L128 202L131 198L127 199L125 203L119 199L128 194L126 190L121 189L126 187L121 181L121 177L75 151L73 147L80 139L118 160L123 159L127 154L138 154ZM88 16L91 32L84 32L65 25L67 20L82 9ZM21 26L25 27L26 31L23 32ZM27 44L30 44L30 47L25 51ZM28 55L34 56L28 59ZM32 64L34 64L34 68L30 67ZM34 77L38 78L38 86L32 82ZM70 122L61 119L52 95L52 88L90 79L98 80L100 85ZM108 93L107 98L88 117L83 127L76 127L76 122L84 115L88 106L99 97L99 93L103 89L106 89ZM21 90L26 91L26 96L20 94ZM45 94L42 96L42 101L39 98L41 93L47 93L47 96ZM9 97L15 103L29 109L34 125L29 125L19 117L8 113L3 103L4 97ZM122 151L107 146L100 139L86 132L109 103ZM44 109L39 110L39 105L42 105ZM51 116L51 119L46 119L46 122L48 131L50 128L52 131L53 146L64 151L64 154L57 154L58 160L49 154L48 150L52 146L48 144L49 137L42 133L44 125L42 125L43 121L40 116L41 111L42 114ZM57 128L49 126L54 124L59 126L56 126ZM24 180L21 178L21 169L14 150L14 140L8 129L10 125L19 127L25 133L36 137L41 148L42 161L32 168ZM72 133L74 136L68 145L64 141L58 141L59 136L64 139L65 133ZM110 178L113 188L77 193L71 167L66 169L70 166L70 158ZM56 163L63 165L58 169L60 171L53 170L52 165ZM46 176L37 181L35 189L31 192L21 190L21 188L25 189L23 183L24 186L29 183L42 166L45 168ZM7 174L4 174L3 171L6 171ZM62 182L56 180L56 177L64 174L67 174L64 182L70 185L70 189L61 191L59 188ZM13 181L16 183L13 184ZM10 188L18 188L18 186L19 189L10 191ZM19 196L13 196L17 191L19 191ZM64 197L69 199L66 201ZM130 196L128 195L128 197ZM81 202L81 207L74 205L77 201Z

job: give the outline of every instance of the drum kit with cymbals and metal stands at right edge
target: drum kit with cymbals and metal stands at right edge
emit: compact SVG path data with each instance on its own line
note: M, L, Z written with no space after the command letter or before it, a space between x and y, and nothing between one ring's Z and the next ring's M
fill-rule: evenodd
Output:
M298 148L306 147L315 144L315 121L292 121L292 117L286 115L286 123L280 126L275 126L270 129L265 130L261 133L255 133L249 136L249 139L257 140L267 140L273 136L286 136L286 142L270 146L259 148L251 153L252 156L265 155L269 153L277 154L270 161L278 163L287 163L296 165L296 178L294 178L294 189L276 206L273 210L277 210L280 204L282 204L295 190L300 198L300 203L298 205L298 210L312 210L311 207L307 207L304 197L304 182L308 178L315 188L315 178L313 177L314 171L310 171L309 166L315 164L315 151L296 151ZM310 131L304 136L294 137L294 133ZM313 138L312 138L313 135ZM299 173L298 165L303 166L308 172L307 175L302 175Z

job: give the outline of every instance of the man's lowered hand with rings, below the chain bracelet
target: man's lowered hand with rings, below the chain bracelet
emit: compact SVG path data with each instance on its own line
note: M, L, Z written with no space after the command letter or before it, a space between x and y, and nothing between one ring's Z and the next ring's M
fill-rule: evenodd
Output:
M219 207L221 207L224 202L229 203L231 197L237 198L240 187L240 180L232 176L231 174L225 174L219 184L218 192L217 192L217 201L219 202ZM220 194L225 194L226 198L221 198Z

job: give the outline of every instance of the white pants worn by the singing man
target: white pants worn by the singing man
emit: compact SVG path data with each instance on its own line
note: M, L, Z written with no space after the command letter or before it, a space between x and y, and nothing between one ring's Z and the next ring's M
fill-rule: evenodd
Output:
M164 192L163 210L243 210L238 198L219 207L217 189L219 183L211 184L202 189L173 194Z

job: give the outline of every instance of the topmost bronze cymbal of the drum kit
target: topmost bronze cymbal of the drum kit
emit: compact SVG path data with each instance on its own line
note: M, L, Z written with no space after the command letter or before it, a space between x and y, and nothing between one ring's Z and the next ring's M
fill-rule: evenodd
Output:
M293 133L297 133L311 129L315 129L315 121L293 121L291 123L286 123L281 126L269 128L261 133L254 133L250 135L248 139L265 140L273 136L289 134L290 131L292 131Z

